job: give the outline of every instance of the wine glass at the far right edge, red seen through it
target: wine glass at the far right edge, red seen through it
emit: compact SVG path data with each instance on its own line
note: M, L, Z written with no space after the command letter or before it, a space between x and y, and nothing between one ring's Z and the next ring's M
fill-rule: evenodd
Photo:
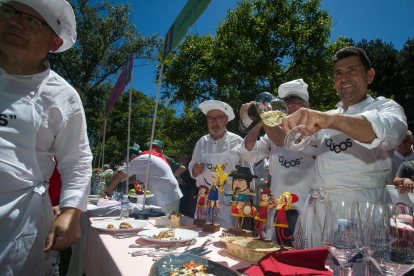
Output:
M413 209L375 203L368 225L367 255L383 275L403 275L414 267Z

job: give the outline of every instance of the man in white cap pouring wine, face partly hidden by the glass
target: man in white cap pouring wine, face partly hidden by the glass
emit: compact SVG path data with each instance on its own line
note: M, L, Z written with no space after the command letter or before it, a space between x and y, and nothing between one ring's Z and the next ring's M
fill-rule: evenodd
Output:
M292 114L300 108L309 108L308 85L297 79L283 83L278 89L279 97L288 105L288 114ZM242 107L245 112L248 105ZM305 204L314 178L314 155L316 148L306 146L301 151L290 151L283 147L276 146L267 135L260 137L256 142L263 123L260 122L252 129L237 148L242 158L249 162L258 162L269 158L269 169L271 174L270 191L275 198L279 198L285 192L296 194L299 200L292 204L292 209L286 211L288 228L282 228L284 235L290 237L295 230L299 211ZM266 232L263 236L267 239L278 240L276 229L273 226L273 219L276 210L268 212L268 222L264 224ZM285 245L291 245L291 240L284 241Z

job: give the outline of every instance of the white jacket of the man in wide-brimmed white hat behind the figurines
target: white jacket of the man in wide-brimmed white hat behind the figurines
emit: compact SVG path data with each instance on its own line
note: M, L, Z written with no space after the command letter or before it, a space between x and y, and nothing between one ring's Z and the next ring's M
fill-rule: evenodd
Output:
M224 135L218 140L214 140L213 138L211 138L210 134L207 134L201 137L197 141L197 144L194 147L193 156L191 158L190 164L188 165L188 170L190 171L190 175L192 178L196 178L193 175L194 164L202 163L201 156L204 153L227 153L228 152L227 137L229 137L229 140L230 140L230 154L235 156L236 165L243 166L243 167L249 167L250 171L253 172L252 164L250 164L250 162L244 161L240 157L239 152L236 150L236 147L241 143L241 141L243 141L243 138L241 138L237 134L227 131L227 135ZM254 182L255 180L253 179L253 183ZM199 181L197 180L197 187L199 187L200 185L204 185L204 182L199 183Z

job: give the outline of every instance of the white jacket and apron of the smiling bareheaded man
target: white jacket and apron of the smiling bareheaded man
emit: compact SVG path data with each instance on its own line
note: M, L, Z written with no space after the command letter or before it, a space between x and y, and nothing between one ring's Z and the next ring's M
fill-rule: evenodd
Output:
M389 202L385 179L391 170L394 149L407 134L404 110L395 101L370 95L355 105L329 114L360 115L377 136L362 143L333 129L314 134L317 138L315 185L300 212L294 233L294 248L323 247L322 231L329 200ZM314 138L315 138L314 137Z

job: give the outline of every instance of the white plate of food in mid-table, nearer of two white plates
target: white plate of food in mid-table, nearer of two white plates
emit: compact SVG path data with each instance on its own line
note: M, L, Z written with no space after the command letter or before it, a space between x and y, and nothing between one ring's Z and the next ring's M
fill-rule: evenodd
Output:
M198 237L198 232L180 228L161 228L143 230L138 233L138 236L153 243L174 243L193 240Z

